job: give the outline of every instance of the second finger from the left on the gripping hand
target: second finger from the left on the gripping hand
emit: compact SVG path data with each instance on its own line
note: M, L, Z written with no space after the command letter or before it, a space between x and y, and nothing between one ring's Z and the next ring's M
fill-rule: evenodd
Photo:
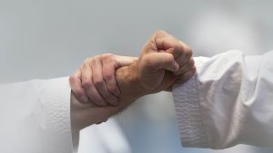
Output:
M94 102L97 106L106 106L106 101L101 97L98 91L96 91L92 80L92 69L88 65L88 62L84 64L82 70L82 83L89 99L92 100L92 102Z

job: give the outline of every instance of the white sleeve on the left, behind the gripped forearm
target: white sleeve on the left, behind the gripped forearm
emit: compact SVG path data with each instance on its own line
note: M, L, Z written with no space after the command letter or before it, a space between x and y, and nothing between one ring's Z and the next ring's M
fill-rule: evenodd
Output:
M5 153L71 153L68 78L0 86L0 149Z

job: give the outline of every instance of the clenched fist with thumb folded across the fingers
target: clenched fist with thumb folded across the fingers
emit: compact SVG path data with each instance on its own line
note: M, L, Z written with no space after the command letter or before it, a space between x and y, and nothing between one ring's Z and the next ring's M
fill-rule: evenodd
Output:
M147 41L136 67L141 85L151 93L169 90L175 81L187 81L196 72L187 44L163 31Z

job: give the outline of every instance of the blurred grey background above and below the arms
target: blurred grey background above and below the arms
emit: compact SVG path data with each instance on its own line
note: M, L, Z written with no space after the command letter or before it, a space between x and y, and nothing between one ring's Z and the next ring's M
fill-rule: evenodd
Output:
M68 76L96 54L137 56L148 37L165 30L195 56L231 49L247 55L273 49L273 1L255 0L0 0L0 82ZM238 145L182 148L173 99L161 92L81 133L79 152L270 153Z

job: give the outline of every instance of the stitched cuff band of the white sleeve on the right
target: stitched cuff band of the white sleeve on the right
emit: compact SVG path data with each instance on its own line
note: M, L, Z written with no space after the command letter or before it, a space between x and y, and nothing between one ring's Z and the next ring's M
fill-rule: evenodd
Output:
M197 63L197 60L196 60ZM198 72L198 66L197 66ZM189 81L173 86L181 144L186 148L207 148L208 140L200 113L197 73Z

